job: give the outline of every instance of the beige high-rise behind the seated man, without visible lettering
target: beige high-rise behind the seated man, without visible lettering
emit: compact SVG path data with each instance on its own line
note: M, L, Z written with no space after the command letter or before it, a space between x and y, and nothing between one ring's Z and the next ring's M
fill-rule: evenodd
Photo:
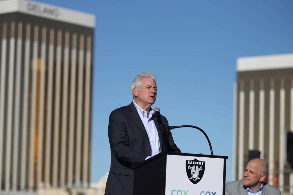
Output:
M237 60L234 84L233 179L241 179L249 150L269 165L268 183L293 193L286 132L293 131L293 54Z

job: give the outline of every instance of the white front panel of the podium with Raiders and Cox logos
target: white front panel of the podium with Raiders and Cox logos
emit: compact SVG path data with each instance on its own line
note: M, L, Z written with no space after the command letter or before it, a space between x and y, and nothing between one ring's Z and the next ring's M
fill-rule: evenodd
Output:
M224 195L224 160L167 154L166 195Z

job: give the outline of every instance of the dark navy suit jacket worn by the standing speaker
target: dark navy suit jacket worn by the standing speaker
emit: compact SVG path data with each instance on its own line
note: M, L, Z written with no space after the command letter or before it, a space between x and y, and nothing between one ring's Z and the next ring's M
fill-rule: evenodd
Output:
M162 123L168 126L166 117L161 115L161 118ZM155 115L153 120L158 130ZM163 138L159 130L158 135L162 151L180 152L171 133L168 136L167 149L163 145ZM152 153L149 137L133 102L112 111L109 117L108 136L111 148L111 167L105 195L132 195L134 171L131 169L131 165L144 161Z

